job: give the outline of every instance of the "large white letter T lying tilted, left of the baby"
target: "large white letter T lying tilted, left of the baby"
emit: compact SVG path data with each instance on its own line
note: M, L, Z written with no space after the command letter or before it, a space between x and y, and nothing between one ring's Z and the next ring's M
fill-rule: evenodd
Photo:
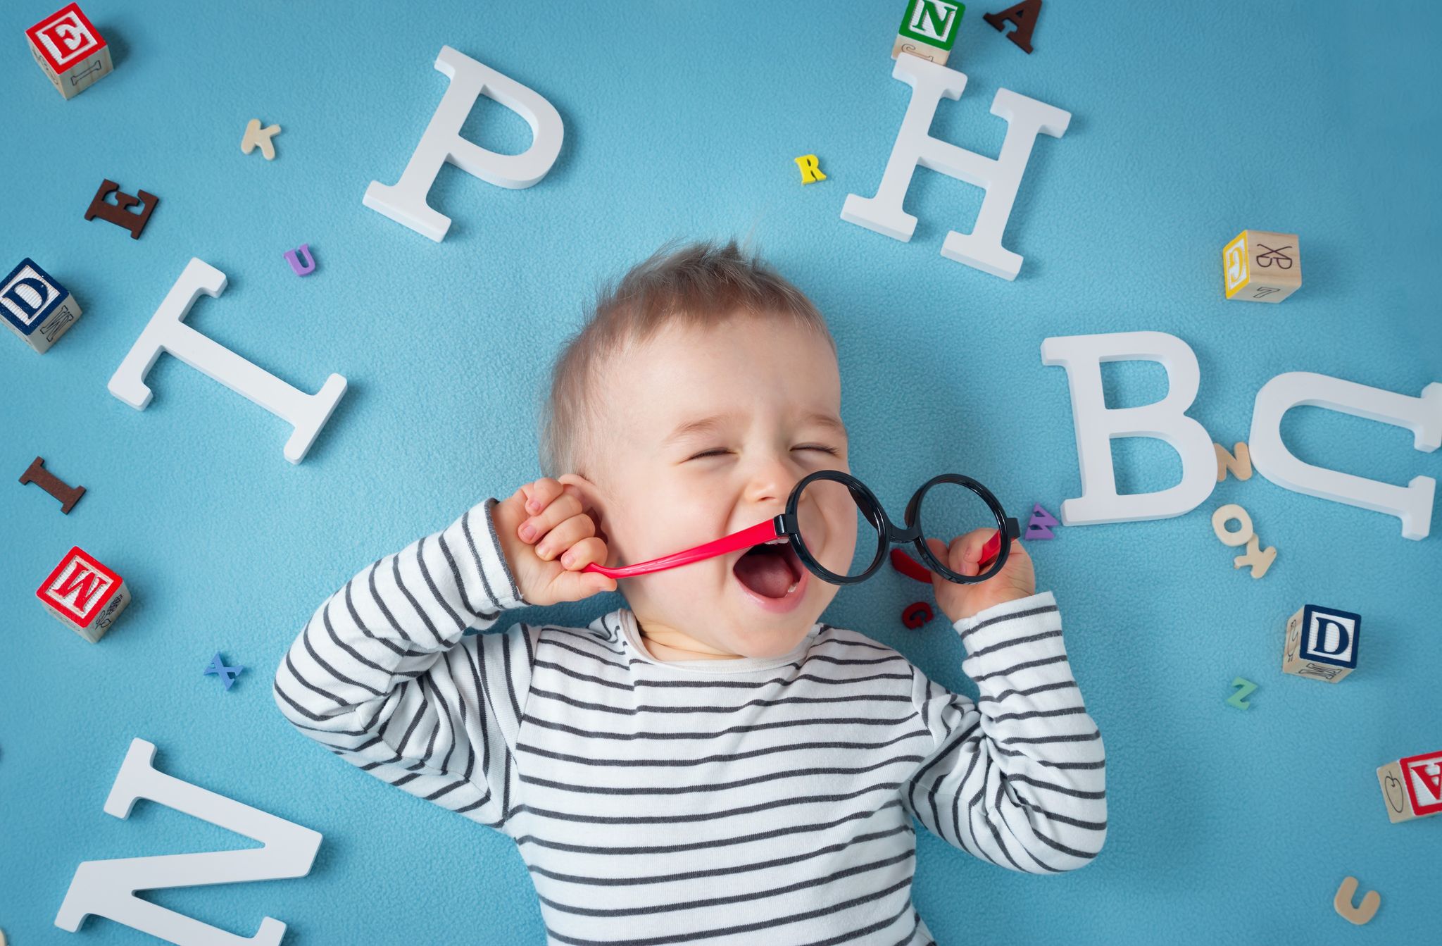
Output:
M296 430L286 441L286 459L300 463L336 410L340 395L346 392L346 379L333 373L317 394L306 394L185 323L186 313L200 293L215 297L222 291L225 274L203 260L192 258L111 375L110 392L143 411L151 395L146 386L146 372L162 352L170 352L190 368L290 421Z

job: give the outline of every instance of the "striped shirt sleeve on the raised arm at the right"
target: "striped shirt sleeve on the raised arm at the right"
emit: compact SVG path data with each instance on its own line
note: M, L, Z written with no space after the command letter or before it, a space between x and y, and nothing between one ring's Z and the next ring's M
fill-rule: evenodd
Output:
M973 702L913 668L933 750L903 803L947 844L1032 874L1076 870L1106 839L1106 753L1082 704L1050 591L955 624Z

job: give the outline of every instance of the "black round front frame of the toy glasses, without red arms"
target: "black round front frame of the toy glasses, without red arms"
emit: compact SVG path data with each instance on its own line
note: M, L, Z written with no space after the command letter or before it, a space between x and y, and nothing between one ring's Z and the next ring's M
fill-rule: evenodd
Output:
M802 538L800 523L797 519L797 506L800 505L800 496L806 489L806 485L815 480L835 480L846 486L846 489L851 490L851 496L857 502L857 508L861 510L861 515L875 526L877 552L865 571L855 575L838 575L816 561L816 558L812 557L810 551L806 548L806 541ZM976 493L976 496L986 503L986 508L991 509L992 515L996 518L998 534L1007 536L1007 541L999 542L996 557L985 571L975 575L963 575L952 571L932 552L930 547L927 547L924 532L926 523L920 521L917 513L921 508L921 499L926 496L926 492L939 483L955 483ZM802 561L802 564L806 565L808 571L822 581L829 581L831 584L857 584L858 581L865 581L877 573L877 568L881 568L881 562L885 560L887 551L893 545L901 545L906 542L910 542L916 549L921 564L947 581L955 581L956 584L976 584L978 581L986 581L1007 565L1007 558L1011 555L1011 539L1021 535L1021 526L1017 523L1017 519L1007 515L1007 510L1002 509L996 496L972 477L960 473L939 473L923 483L921 487L911 495L911 502L906 506L904 523L906 528L898 529L895 523L891 522L890 516L887 516L887 510L881 505L881 500L877 499L875 493L872 493L867 485L855 476L842 470L816 470L813 473L808 473L799 483L796 483L792 489L792 495L786 499L786 512L773 519L776 534L783 535L790 541L792 549L796 552L796 557ZM936 538L949 541L946 536ZM861 536L858 536L857 541L859 542Z

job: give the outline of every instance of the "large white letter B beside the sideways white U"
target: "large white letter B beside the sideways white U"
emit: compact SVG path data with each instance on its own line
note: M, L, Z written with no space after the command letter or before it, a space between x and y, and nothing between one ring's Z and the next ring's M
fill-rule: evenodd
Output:
M914 59L914 56L913 56ZM1142 407L1107 408L1102 362L1154 361L1167 369L1167 397ZM1165 332L1118 332L1045 339L1041 363L1067 369L1076 424L1082 496L1061 503L1066 525L1165 519L1195 509L1217 485L1211 437L1187 408L1197 398L1201 372L1191 346ZM1181 482L1155 493L1116 492L1113 437L1156 437L1181 457ZM1253 448L1253 457L1256 450Z

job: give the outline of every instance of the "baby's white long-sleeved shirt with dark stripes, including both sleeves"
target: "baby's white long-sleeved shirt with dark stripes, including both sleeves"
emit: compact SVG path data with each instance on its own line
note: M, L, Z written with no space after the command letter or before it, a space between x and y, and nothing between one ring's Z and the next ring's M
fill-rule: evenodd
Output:
M627 609L467 635L529 604L495 503L322 603L274 695L346 761L509 835L549 943L929 943L913 816L1015 871L1102 848L1102 737L1051 593L955 624L975 702L822 622L731 660L656 660Z

